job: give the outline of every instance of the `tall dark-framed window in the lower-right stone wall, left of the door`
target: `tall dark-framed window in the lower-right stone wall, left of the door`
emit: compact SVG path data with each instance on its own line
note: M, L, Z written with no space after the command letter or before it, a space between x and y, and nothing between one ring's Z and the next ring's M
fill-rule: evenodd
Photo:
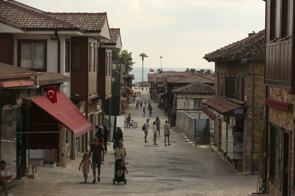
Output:
M269 178L278 187L281 187L282 162L282 131L279 126L271 123L269 148Z

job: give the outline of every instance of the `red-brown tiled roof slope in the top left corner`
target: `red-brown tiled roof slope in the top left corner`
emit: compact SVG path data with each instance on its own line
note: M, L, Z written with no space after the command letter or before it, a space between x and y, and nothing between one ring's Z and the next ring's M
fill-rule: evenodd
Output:
M12 3L0 0L0 22L22 28L64 28L75 29L76 25L69 21L59 20L44 13L38 13Z

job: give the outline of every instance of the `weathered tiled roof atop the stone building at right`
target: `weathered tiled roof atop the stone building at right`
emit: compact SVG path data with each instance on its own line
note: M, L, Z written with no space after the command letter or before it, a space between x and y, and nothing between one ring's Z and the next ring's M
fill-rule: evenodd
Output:
M234 42L214 52L206 54L207 61L218 62L234 59L234 56L262 57L264 58L265 30L254 33L241 41Z

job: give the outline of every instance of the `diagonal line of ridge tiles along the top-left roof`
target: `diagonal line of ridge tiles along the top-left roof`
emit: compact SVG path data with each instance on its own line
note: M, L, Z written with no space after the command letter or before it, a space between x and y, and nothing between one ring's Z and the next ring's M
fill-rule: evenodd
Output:
M29 12L29 13L32 13L32 14L34 14L34 15L38 15L38 16L40 16L40 17L42 17L42 18L45 18L45 19L47 19L47 20L50 20L50 21L55 21L55 22L57 22L57 23L60 23L60 24L63 24L63 25L67 25L67 26L69 26L69 27L71 27L71 28L79 28L78 25L71 24L71 23L69 23L69 22L67 22L67 21L63 21L63 20L60 20L60 19L57 19L57 18L54 18L54 17L48 16L48 15L46 15L46 14L44 14L44 13L37 12L37 11L35 11L35 10L28 9L28 8L25 8L25 7L22 7L22 6L18 6L18 5L15 5L15 4L13 4L13 3L10 3L10 2L6 2L6 1L4 1L4 0L0 0L0 3L4 3L4 4L6 4L6 5L9 5L9 6L15 7L15 8L17 8L17 9L24 10L24 11ZM5 19L4 19L4 20L5 20ZM8 21L8 20L6 20L6 21ZM9 22L10 22L10 21L9 21ZM16 24L16 23L14 23L14 24Z

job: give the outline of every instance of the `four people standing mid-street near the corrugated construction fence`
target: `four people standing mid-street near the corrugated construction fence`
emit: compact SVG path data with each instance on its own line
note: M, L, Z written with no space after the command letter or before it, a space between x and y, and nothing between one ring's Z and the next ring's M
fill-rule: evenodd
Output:
M147 119L147 122L144 123L144 142L148 142L147 141L147 136L148 136L148 128L149 128L149 121L150 119ZM156 120L153 122L153 141L154 141L154 145L158 145L157 144L157 131L158 131L158 138L160 137L160 125L161 125L161 121L159 119L159 117L157 116L156 117ZM171 145L170 142L169 142L169 135L170 135L170 131L169 131L170 127L169 127L169 124L168 124L168 121L166 120L165 121L165 124L164 124L164 136L165 136L165 146L167 146L166 144L166 138L168 138L168 145Z

